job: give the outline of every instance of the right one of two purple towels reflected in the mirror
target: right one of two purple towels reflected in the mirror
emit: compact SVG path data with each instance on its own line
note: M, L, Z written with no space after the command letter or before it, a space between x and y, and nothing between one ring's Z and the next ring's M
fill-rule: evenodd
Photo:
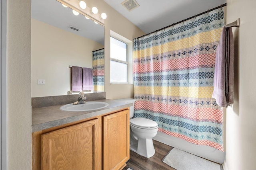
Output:
M92 68L83 68L83 90L93 90Z

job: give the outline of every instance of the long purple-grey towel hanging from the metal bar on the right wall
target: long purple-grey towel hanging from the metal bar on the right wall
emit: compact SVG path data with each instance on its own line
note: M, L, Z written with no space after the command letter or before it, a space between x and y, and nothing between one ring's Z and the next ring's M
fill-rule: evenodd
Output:
M231 27L222 29L217 47L212 98L219 106L227 107L234 102L234 40Z

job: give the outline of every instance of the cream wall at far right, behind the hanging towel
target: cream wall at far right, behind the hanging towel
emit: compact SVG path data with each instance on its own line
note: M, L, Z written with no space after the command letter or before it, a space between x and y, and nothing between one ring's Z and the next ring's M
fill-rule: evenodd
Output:
M226 113L226 160L228 170L256 169L256 1L228 0L227 23L233 27L234 105Z

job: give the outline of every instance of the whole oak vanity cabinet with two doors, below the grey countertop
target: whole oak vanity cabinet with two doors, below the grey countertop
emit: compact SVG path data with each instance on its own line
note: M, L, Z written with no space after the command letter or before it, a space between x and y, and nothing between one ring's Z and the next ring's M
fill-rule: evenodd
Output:
M119 170L129 159L129 109L32 133L32 170Z

